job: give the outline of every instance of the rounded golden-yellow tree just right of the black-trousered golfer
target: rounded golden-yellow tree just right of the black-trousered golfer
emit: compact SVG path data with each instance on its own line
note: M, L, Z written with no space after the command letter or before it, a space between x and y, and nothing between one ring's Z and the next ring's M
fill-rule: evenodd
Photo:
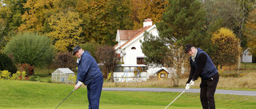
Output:
M216 31L212 37L212 43L217 45L217 50L212 56L217 68L238 63L238 56L241 52L239 40L230 29L221 28Z

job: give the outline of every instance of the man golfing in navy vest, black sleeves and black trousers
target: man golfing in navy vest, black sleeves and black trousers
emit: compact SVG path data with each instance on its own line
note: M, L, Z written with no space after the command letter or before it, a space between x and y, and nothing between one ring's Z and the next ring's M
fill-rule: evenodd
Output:
M201 77L200 99L203 109L215 109L214 93L218 84L218 71L210 56L202 49L193 45L185 46L186 53L190 55L190 77L186 82L186 90L194 85L194 81Z

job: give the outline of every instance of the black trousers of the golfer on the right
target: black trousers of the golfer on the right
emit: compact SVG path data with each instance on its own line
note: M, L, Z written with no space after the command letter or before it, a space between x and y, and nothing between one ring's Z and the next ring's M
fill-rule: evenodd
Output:
M200 99L203 109L215 109L214 93L218 84L218 73L200 84Z

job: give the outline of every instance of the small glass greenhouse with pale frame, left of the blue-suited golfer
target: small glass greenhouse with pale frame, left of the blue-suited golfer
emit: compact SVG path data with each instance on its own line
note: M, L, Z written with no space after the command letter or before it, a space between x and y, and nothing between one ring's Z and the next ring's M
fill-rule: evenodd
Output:
M73 83L70 77L74 76L74 72L70 68L58 68L51 74L51 80L53 82L62 82L66 84Z

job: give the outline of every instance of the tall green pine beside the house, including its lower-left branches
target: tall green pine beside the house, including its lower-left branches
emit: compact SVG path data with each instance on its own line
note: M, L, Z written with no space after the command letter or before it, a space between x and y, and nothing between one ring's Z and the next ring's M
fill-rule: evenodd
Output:
M209 47L210 35L206 35L203 29L205 16L201 2L197 0L171 0L162 21L156 23L159 37L144 37L142 52L146 55L146 62L164 64L167 46L174 43L177 46L192 44Z

